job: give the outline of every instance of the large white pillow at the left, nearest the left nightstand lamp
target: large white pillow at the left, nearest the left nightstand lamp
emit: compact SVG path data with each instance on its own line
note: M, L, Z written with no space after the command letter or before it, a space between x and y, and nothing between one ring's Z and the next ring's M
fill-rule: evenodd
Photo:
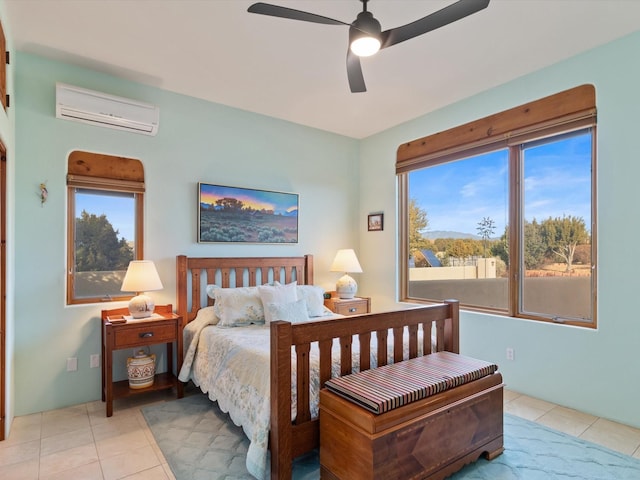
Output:
M220 327L264 323L264 307L258 287L216 288L214 309Z

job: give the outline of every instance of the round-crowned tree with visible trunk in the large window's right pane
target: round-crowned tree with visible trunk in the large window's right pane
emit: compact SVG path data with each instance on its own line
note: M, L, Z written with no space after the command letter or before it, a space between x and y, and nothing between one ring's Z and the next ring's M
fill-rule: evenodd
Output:
M540 225L541 236L550 253L560 257L566 264L566 271L573 270L576 247L589 242L589 233L584 219L563 216L544 220Z

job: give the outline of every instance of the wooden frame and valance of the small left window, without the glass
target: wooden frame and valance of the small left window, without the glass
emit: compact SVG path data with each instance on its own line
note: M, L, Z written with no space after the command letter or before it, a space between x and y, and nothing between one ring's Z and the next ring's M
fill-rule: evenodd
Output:
M144 258L144 170L137 159L91 152L69 154L67 170L67 305L126 301L131 294L101 297L75 296L75 193L76 189L125 192L134 195L134 260Z

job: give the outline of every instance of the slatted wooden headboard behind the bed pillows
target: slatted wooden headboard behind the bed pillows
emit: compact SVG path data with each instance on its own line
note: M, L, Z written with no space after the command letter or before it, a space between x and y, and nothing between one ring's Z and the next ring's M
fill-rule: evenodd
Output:
M302 257L176 257L176 311L186 323L213 305L207 285L253 287L271 282L313 284L313 255ZM191 293L189 295L189 292Z

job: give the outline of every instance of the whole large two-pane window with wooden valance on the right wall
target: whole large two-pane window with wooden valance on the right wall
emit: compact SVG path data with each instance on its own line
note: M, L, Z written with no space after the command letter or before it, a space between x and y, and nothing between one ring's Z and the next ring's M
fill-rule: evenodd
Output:
M402 145L401 298L595 326L595 171L592 86Z

